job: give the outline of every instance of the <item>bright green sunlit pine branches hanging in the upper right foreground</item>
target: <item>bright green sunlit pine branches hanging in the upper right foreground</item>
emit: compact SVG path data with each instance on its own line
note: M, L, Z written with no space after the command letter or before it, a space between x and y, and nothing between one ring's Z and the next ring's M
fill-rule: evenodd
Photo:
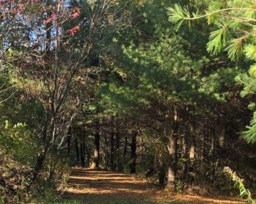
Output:
M241 60L246 57L249 60L248 74L238 75L236 80L244 84L241 97L253 95L255 93L255 2L248 1L212 1L204 14L190 13L180 5L168 8L168 20L176 25L176 30L180 28L184 21L190 22L197 19L206 19L209 25L213 25L207 44L208 52L219 54L227 52L231 60ZM255 102L253 102L255 103ZM253 108L253 105L249 107ZM247 142L254 143L255 137L255 117L251 121L251 126L244 132Z

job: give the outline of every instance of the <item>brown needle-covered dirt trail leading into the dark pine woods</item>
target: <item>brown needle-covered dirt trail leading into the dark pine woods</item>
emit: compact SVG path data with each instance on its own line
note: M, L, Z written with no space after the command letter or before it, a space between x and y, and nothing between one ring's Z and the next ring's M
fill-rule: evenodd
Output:
M129 174L74 168L62 195L64 203L243 203L198 196L167 196Z

